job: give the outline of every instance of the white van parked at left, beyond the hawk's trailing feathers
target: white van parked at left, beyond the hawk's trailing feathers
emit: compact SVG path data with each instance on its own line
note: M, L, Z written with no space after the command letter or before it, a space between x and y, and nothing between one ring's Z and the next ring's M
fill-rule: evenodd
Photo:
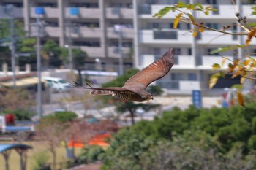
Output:
M42 80L45 80L47 87L52 88L53 91L67 91L70 89L69 83L58 77L42 77Z

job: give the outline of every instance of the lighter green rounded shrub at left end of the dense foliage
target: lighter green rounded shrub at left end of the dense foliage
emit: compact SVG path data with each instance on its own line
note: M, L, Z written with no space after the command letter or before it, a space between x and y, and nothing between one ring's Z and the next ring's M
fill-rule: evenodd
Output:
M123 128L113 136L108 150L105 152L104 166L108 170L139 170L140 156L151 147L153 142L139 131Z

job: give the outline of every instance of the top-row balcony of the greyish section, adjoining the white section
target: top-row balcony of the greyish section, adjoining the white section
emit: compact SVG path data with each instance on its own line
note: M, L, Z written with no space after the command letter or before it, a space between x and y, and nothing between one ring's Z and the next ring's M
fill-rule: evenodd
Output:
M110 18L110 19L115 19L115 18L132 19L133 18L133 9L108 7L106 9L106 16L107 16L107 18Z

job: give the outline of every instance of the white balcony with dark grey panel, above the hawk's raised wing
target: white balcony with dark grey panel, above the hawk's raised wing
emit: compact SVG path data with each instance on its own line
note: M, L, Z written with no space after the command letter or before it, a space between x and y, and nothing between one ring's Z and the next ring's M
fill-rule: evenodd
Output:
M139 33L140 43L145 44L192 44L193 37L187 31L173 29L142 30Z

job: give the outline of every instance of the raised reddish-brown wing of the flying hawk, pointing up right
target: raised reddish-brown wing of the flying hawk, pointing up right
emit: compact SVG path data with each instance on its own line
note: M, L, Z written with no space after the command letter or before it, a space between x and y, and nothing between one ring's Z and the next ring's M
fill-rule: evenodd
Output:
M123 88L134 92L145 90L151 82L164 77L170 71L170 68L172 68L174 63L173 56L174 50L173 48L170 48L162 58L154 61L154 63L151 63L145 69L129 78L129 80L125 82Z

